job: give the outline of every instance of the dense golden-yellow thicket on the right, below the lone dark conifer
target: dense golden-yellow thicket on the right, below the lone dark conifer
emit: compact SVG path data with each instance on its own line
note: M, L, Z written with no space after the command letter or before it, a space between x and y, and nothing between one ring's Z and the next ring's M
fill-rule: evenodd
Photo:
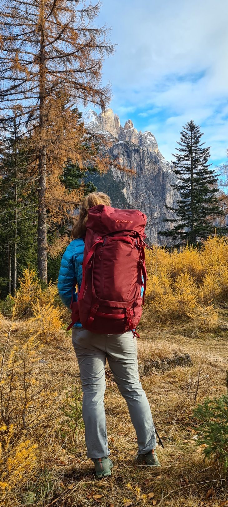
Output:
M190 317L197 305L202 305L205 314L205 305L209 305L208 315L213 313L214 320L216 310L211 303L228 297L226 237L209 237L200 249L188 245L180 250L155 246L146 252L146 268L146 297L159 317Z

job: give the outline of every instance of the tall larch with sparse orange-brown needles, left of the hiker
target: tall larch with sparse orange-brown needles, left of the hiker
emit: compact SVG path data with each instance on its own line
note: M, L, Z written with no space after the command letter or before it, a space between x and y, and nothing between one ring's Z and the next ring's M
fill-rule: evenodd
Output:
M107 29L93 25L98 12L99 3L86 0L0 0L1 123L7 128L13 108L20 106L37 187L38 271L46 282L47 207L67 200L60 166L68 158L82 163L75 127L83 127L73 105L89 101L104 110L110 98L101 71L113 47ZM71 206L74 197L68 198Z

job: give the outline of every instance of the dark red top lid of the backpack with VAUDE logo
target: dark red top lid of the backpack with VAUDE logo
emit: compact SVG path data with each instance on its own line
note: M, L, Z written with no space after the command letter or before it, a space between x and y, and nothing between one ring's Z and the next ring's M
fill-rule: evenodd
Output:
M146 221L146 215L138 209L118 209L98 204L89 209L86 227L102 236L119 231L143 234Z

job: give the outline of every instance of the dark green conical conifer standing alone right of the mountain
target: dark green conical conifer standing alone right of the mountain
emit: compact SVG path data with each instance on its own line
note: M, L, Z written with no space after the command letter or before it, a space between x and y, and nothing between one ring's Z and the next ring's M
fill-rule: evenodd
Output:
M181 132L179 148L176 148L173 172L178 177L172 187L179 193L176 207L167 209L175 213L175 219L164 222L175 224L167 231L160 231L161 236L167 236L179 241L195 244L213 234L218 218L223 211L217 197L218 177L211 164L208 163L210 148L201 142L203 133L193 120L188 122ZM217 230L225 233L227 228L220 226Z

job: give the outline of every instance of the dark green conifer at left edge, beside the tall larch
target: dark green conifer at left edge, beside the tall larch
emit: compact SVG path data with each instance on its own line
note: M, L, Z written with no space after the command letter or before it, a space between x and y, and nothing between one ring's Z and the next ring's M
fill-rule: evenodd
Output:
M34 182L27 174L27 154L21 137L21 117L14 117L2 135L0 149L0 279L1 297L17 289L18 264L31 262L37 224ZM34 253L34 251L33 251ZM8 266L8 269L7 269ZM7 280L8 278L8 280Z

